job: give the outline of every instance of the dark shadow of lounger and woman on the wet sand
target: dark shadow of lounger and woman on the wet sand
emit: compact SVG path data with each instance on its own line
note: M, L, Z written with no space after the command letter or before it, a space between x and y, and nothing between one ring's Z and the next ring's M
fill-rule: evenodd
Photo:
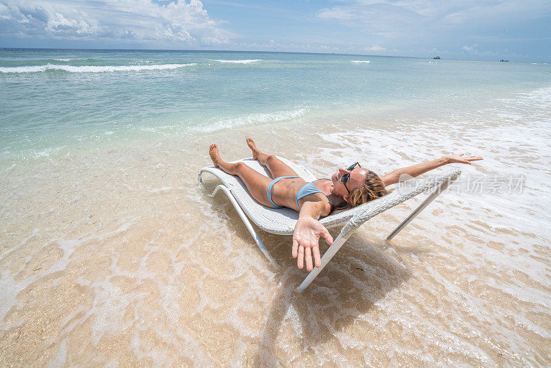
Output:
M254 246L251 234L239 220L235 209L229 203L224 204L223 199L220 200L220 206L215 208L215 211L220 211L220 215L227 216L227 226L233 234L245 243L251 243L251 252L262 255L260 249ZM330 229L333 237L339 231L340 229ZM358 316L373 309L377 301L382 300L411 276L406 267L386 254L383 249L388 245L384 241L377 238L368 240L360 229L349 238L346 246L333 257L333 261L326 265L313 283L304 292L299 292L297 287L307 272L306 267L298 269L296 260L291 257L292 237L262 231L258 234L277 262L277 265L270 265L266 260L267 267L273 270L275 281L279 281L281 287L278 294L273 296L269 307L258 354L253 361L254 366L272 367L281 364L275 351L275 343L284 328L287 314L298 316L298 328L302 331L300 350L306 351L326 343L336 332L342 331ZM320 240L322 254L328 247L329 245ZM415 254L424 253L418 247L395 249L398 254L410 251Z

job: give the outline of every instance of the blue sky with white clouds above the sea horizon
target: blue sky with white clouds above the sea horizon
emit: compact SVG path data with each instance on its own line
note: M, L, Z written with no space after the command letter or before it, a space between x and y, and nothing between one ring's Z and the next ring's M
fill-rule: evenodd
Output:
M0 47L551 61L551 0L0 0Z

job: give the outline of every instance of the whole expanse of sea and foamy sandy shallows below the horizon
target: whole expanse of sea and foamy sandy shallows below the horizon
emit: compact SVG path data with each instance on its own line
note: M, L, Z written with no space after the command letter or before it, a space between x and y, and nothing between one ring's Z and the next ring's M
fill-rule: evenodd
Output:
M1 49L0 96L0 366L551 365L548 63ZM197 181L247 137L319 178L484 160L297 292Z

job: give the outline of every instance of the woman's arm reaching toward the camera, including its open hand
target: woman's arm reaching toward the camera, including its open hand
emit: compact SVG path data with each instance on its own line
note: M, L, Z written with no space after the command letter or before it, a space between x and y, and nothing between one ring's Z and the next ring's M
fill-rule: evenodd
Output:
M306 269L313 269L312 256L315 267L322 265L320 246L318 239L325 238L327 244L333 244L333 236L318 221L320 216L327 216L331 212L331 205L328 201L304 202L300 208L298 221L293 231L293 258L297 258L298 268L302 268L304 260Z

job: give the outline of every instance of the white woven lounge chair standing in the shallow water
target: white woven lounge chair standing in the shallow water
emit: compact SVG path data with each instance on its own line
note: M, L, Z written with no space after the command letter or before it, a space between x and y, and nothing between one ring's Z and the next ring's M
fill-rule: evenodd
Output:
M305 181L316 180L315 176L313 176L313 174L305 167L292 163L282 157L278 157L278 159L289 165L293 170L295 170L298 176L303 178ZM261 174L270 176L269 171L260 165L259 161L253 159L243 159L233 162L239 161L246 163ZM240 180L240 178L227 174L214 166L203 167L199 171L198 178L200 183L202 183L202 174L205 172L213 174L222 182L222 184L216 186L214 192L212 192L210 196L216 195L218 190L225 192L229 198L229 201L231 201L231 204L236 208L239 216L241 216L243 223L245 223L245 226L249 229L249 232L253 236L258 247L262 249L264 255L266 255L271 262L274 262L268 250L264 247L262 241L260 241L258 234L254 231L251 223L249 222L249 218L265 232L270 232L272 234L292 235L293 229L295 228L295 223L298 219L298 212L294 209L289 209L286 207L274 209L261 205L255 201L251 194L249 194L247 187L245 187L245 184ZM411 214L409 214L409 216L407 216L406 219L402 221L402 223L398 225L393 232L391 232L391 234L386 236L385 240L391 240L391 238L398 234L398 232L408 225L408 223L410 223L410 221L412 221L413 218L419 214L419 212L421 212L431 201L433 201L434 198L443 192L446 187L450 185L450 183L455 181L460 174L461 170L453 168L446 170L439 176L430 176L421 180L406 181L402 183L399 188L396 188L393 192L382 198L376 199L375 201L371 201L364 205L360 205L353 209L335 212L334 214L320 218L320 222L328 229L342 225L344 225L344 227L342 227L339 236L337 236L335 241L333 241L333 245L331 245L331 247L329 247L329 249L327 249L322 256L321 267L314 267L314 269L300 284L298 289L302 291L308 287L315 276L318 276L325 265L329 263L329 260L331 260L340 247L344 245L346 240L348 240L348 238L356 231L358 227L363 225L370 218L385 212L387 209L392 208L399 203L417 196L417 194L422 192L430 192L428 197L416 209L414 209L413 212L411 212Z

